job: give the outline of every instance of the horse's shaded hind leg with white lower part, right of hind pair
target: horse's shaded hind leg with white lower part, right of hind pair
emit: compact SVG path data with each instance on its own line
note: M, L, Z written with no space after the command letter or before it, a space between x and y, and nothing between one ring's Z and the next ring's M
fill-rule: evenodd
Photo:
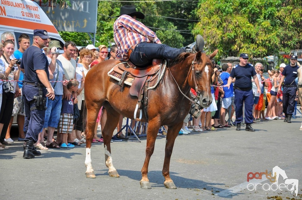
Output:
M112 138L113 131L115 130L117 123L120 119L120 114L116 112L111 106L106 106L107 119L106 124L103 128L102 136L104 140L104 149L105 149L105 164L109 168L108 174L111 177L120 177L119 173L116 171L113 166L112 157L111 157L111 146L110 140Z

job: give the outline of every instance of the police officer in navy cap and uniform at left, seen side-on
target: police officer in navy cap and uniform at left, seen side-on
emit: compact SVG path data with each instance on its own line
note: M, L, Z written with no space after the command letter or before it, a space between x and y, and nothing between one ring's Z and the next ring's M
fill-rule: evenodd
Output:
M26 146L23 158L41 155L33 145L38 139L45 119L46 97L53 99L54 91L49 82L48 60L42 52L49 36L46 30L35 29L33 44L22 57L21 71L24 73L22 97L25 108L24 133Z

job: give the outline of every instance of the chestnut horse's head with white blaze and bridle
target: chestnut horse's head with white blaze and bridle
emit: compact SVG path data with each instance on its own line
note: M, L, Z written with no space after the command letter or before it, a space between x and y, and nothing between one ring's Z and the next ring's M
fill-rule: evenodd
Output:
M203 108L209 107L213 100L211 83L214 65L211 59L214 58L217 52L218 50L215 50L212 54L206 56L205 53L199 51L192 61L188 83L199 95L200 106Z

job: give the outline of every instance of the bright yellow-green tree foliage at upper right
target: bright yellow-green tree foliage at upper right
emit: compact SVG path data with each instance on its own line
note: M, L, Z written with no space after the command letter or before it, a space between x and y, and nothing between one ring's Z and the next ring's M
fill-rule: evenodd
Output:
M200 0L194 33L203 33L210 51L252 57L301 49L298 0Z

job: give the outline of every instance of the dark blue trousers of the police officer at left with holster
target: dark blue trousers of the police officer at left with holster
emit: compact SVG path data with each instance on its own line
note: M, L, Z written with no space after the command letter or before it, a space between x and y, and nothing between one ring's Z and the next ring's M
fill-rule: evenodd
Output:
M36 106L34 96L38 96L39 87L32 85L23 85L22 97L24 101L25 109L25 122L24 122L24 133L25 140L33 140L35 143L38 139L38 134L41 132L44 120L45 120L45 109L38 110L31 108ZM43 96L46 95L46 89L43 90Z

